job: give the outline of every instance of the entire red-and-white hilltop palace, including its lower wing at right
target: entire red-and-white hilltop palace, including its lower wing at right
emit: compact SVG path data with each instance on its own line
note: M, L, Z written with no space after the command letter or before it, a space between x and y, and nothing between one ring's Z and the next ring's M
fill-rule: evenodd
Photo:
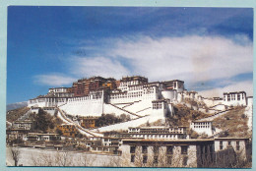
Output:
M148 83L147 78L135 76L124 77L120 81L95 77L79 80L72 87L49 88L46 95L30 99L29 107L53 110L57 107L65 114L83 117L126 114L132 120L137 120L132 123L137 122L135 125L127 123L128 129L131 126L138 127L149 120L157 121L172 116L173 104L184 99L204 102L209 108L215 107L216 110L224 110L228 106L246 106L248 102L252 104L252 97L246 97L244 91L224 92L223 98L204 98L196 91L187 91L184 82L179 80ZM201 129L200 123L194 125L195 130ZM211 125L207 128L212 130Z

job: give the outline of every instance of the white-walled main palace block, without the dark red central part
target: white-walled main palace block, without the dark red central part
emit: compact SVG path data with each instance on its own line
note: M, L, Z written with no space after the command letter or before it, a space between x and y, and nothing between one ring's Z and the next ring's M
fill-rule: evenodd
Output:
M184 82L148 83L143 77L127 77L117 88L98 88L88 95L74 96L69 87L50 88L46 95L29 101L30 107L58 106L69 115L100 116L127 114L132 119L146 115L171 115L173 101L181 98Z

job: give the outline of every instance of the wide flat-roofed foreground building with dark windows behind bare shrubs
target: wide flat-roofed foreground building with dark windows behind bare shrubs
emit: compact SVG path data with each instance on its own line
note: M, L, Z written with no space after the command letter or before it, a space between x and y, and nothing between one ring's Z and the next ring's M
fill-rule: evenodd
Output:
M203 167L214 159L213 139L124 139L120 149L126 167Z

